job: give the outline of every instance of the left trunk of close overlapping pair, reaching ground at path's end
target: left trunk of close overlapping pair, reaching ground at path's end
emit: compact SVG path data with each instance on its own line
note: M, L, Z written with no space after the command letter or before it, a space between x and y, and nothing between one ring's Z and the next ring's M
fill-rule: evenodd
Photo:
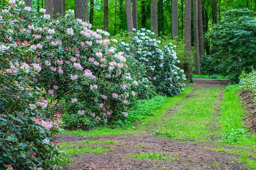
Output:
M195 74L201 74L198 40L198 0L194 0Z

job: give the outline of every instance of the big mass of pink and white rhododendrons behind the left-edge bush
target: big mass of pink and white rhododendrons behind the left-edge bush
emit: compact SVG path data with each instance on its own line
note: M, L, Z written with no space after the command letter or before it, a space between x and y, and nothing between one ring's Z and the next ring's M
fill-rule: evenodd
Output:
M73 10L53 20L45 9L36 12L21 8L22 1L12 3L1 18L15 22L9 29L12 40L29 48L34 56L29 62L38 69L32 81L61 108L67 127L85 129L125 119L137 99L148 99L155 91L166 96L182 91L185 77L175 66L174 47L159 49L150 32L138 31L134 42L126 44L101 29L92 31Z

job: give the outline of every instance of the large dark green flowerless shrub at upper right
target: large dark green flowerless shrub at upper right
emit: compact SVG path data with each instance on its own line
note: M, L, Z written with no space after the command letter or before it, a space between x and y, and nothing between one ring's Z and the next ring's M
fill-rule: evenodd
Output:
M252 67L255 68L255 16L255 12L248 9L229 10L224 12L221 21L212 26L207 37L215 51L213 60L216 74L238 82L243 70L249 73Z

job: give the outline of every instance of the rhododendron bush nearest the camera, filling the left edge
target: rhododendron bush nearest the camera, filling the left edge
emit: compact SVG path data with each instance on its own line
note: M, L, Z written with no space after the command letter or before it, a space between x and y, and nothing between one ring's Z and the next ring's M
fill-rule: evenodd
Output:
M10 15L11 16L11 15ZM18 20L0 17L0 169L57 169L58 142L54 134L61 113L33 82L41 66L27 42L14 42Z

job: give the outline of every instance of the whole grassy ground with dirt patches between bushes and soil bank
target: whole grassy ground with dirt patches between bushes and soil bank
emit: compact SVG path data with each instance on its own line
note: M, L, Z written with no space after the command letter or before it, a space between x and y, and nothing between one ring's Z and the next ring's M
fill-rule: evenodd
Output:
M59 135L67 153L61 164L64 170L254 169L256 137L242 129L238 101L236 89L221 85L153 99L138 107L145 115L129 128Z

